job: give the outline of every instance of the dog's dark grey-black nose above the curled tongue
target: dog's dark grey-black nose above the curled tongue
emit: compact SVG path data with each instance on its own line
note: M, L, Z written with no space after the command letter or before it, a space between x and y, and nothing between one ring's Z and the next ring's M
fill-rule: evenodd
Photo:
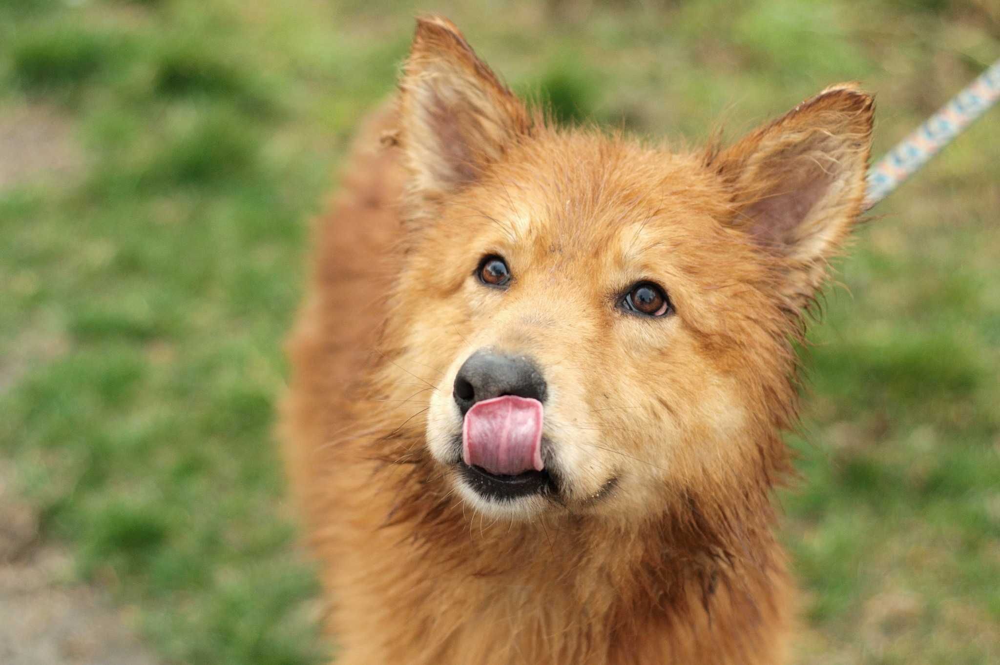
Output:
M459 368L452 394L464 416L477 401L502 394L545 401L545 379L529 357L480 348Z

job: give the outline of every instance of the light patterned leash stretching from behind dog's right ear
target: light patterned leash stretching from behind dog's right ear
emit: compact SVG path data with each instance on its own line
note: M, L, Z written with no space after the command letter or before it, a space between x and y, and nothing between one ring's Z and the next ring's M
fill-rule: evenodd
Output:
M1000 60L900 141L868 172L865 210L875 206L1000 99Z

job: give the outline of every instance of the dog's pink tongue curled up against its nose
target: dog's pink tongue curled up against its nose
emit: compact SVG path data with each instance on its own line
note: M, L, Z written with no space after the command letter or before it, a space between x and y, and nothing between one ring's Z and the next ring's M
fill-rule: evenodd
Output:
M462 458L497 475L541 471L542 402L512 394L477 401L462 424Z

